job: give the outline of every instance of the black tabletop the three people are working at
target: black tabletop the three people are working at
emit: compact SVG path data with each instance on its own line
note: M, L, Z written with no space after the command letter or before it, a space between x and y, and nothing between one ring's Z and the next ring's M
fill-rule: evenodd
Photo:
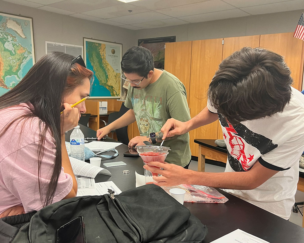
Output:
M80 129L85 137L96 136L96 132L88 127L80 125ZM69 141L70 134L71 131L66 136L66 141ZM105 141L115 140L107 138ZM119 156L104 162L124 161L127 165L107 168L112 176L99 174L95 181L113 181L122 191L135 188L135 171L143 175L143 161L140 157L124 157L123 152L128 150L128 147L124 144L119 145L116 149L119 151ZM106 168L103 165L101 166ZM123 174L123 170L130 170L130 173ZM204 243L214 241L238 228L270 243L304 242L304 228L225 191L218 190L229 201L224 204L184 203L193 215L207 225L209 232L203 241Z

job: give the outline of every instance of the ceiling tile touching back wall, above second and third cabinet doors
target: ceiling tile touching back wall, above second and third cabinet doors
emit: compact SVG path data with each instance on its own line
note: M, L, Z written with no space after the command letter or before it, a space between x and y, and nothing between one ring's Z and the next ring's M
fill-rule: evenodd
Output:
M248 15L249 14L245 13L244 11L241 11L240 9L236 8L236 9L224 10L219 12L179 17L179 19L188 21L190 23L196 23L196 22L205 22L205 21L212 21L218 19L226 19L226 18L238 18Z

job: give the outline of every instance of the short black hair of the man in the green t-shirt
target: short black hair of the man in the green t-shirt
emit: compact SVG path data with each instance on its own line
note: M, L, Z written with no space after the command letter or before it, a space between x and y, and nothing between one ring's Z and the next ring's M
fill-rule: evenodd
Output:
M121 60L121 69L125 73L136 73L140 77L148 77L151 70L154 69L152 53L144 47L133 46L123 55Z

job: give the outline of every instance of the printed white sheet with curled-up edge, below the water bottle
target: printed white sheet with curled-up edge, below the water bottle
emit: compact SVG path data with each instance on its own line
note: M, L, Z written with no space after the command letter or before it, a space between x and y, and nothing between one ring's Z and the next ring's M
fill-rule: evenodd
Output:
M91 177L95 178L96 175L99 174L104 174L104 175L112 175L110 171L107 169L91 165L85 161L81 161L79 159L75 159L72 157L69 157L72 165L72 169L74 172L74 175L81 175L85 177Z

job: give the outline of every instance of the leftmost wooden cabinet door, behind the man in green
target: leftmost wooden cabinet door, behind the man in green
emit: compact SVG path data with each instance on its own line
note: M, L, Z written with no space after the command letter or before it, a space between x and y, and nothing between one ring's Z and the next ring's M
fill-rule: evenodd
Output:
M189 105L190 68L191 68L192 41L166 43L165 70L174 74L184 85L187 91Z

